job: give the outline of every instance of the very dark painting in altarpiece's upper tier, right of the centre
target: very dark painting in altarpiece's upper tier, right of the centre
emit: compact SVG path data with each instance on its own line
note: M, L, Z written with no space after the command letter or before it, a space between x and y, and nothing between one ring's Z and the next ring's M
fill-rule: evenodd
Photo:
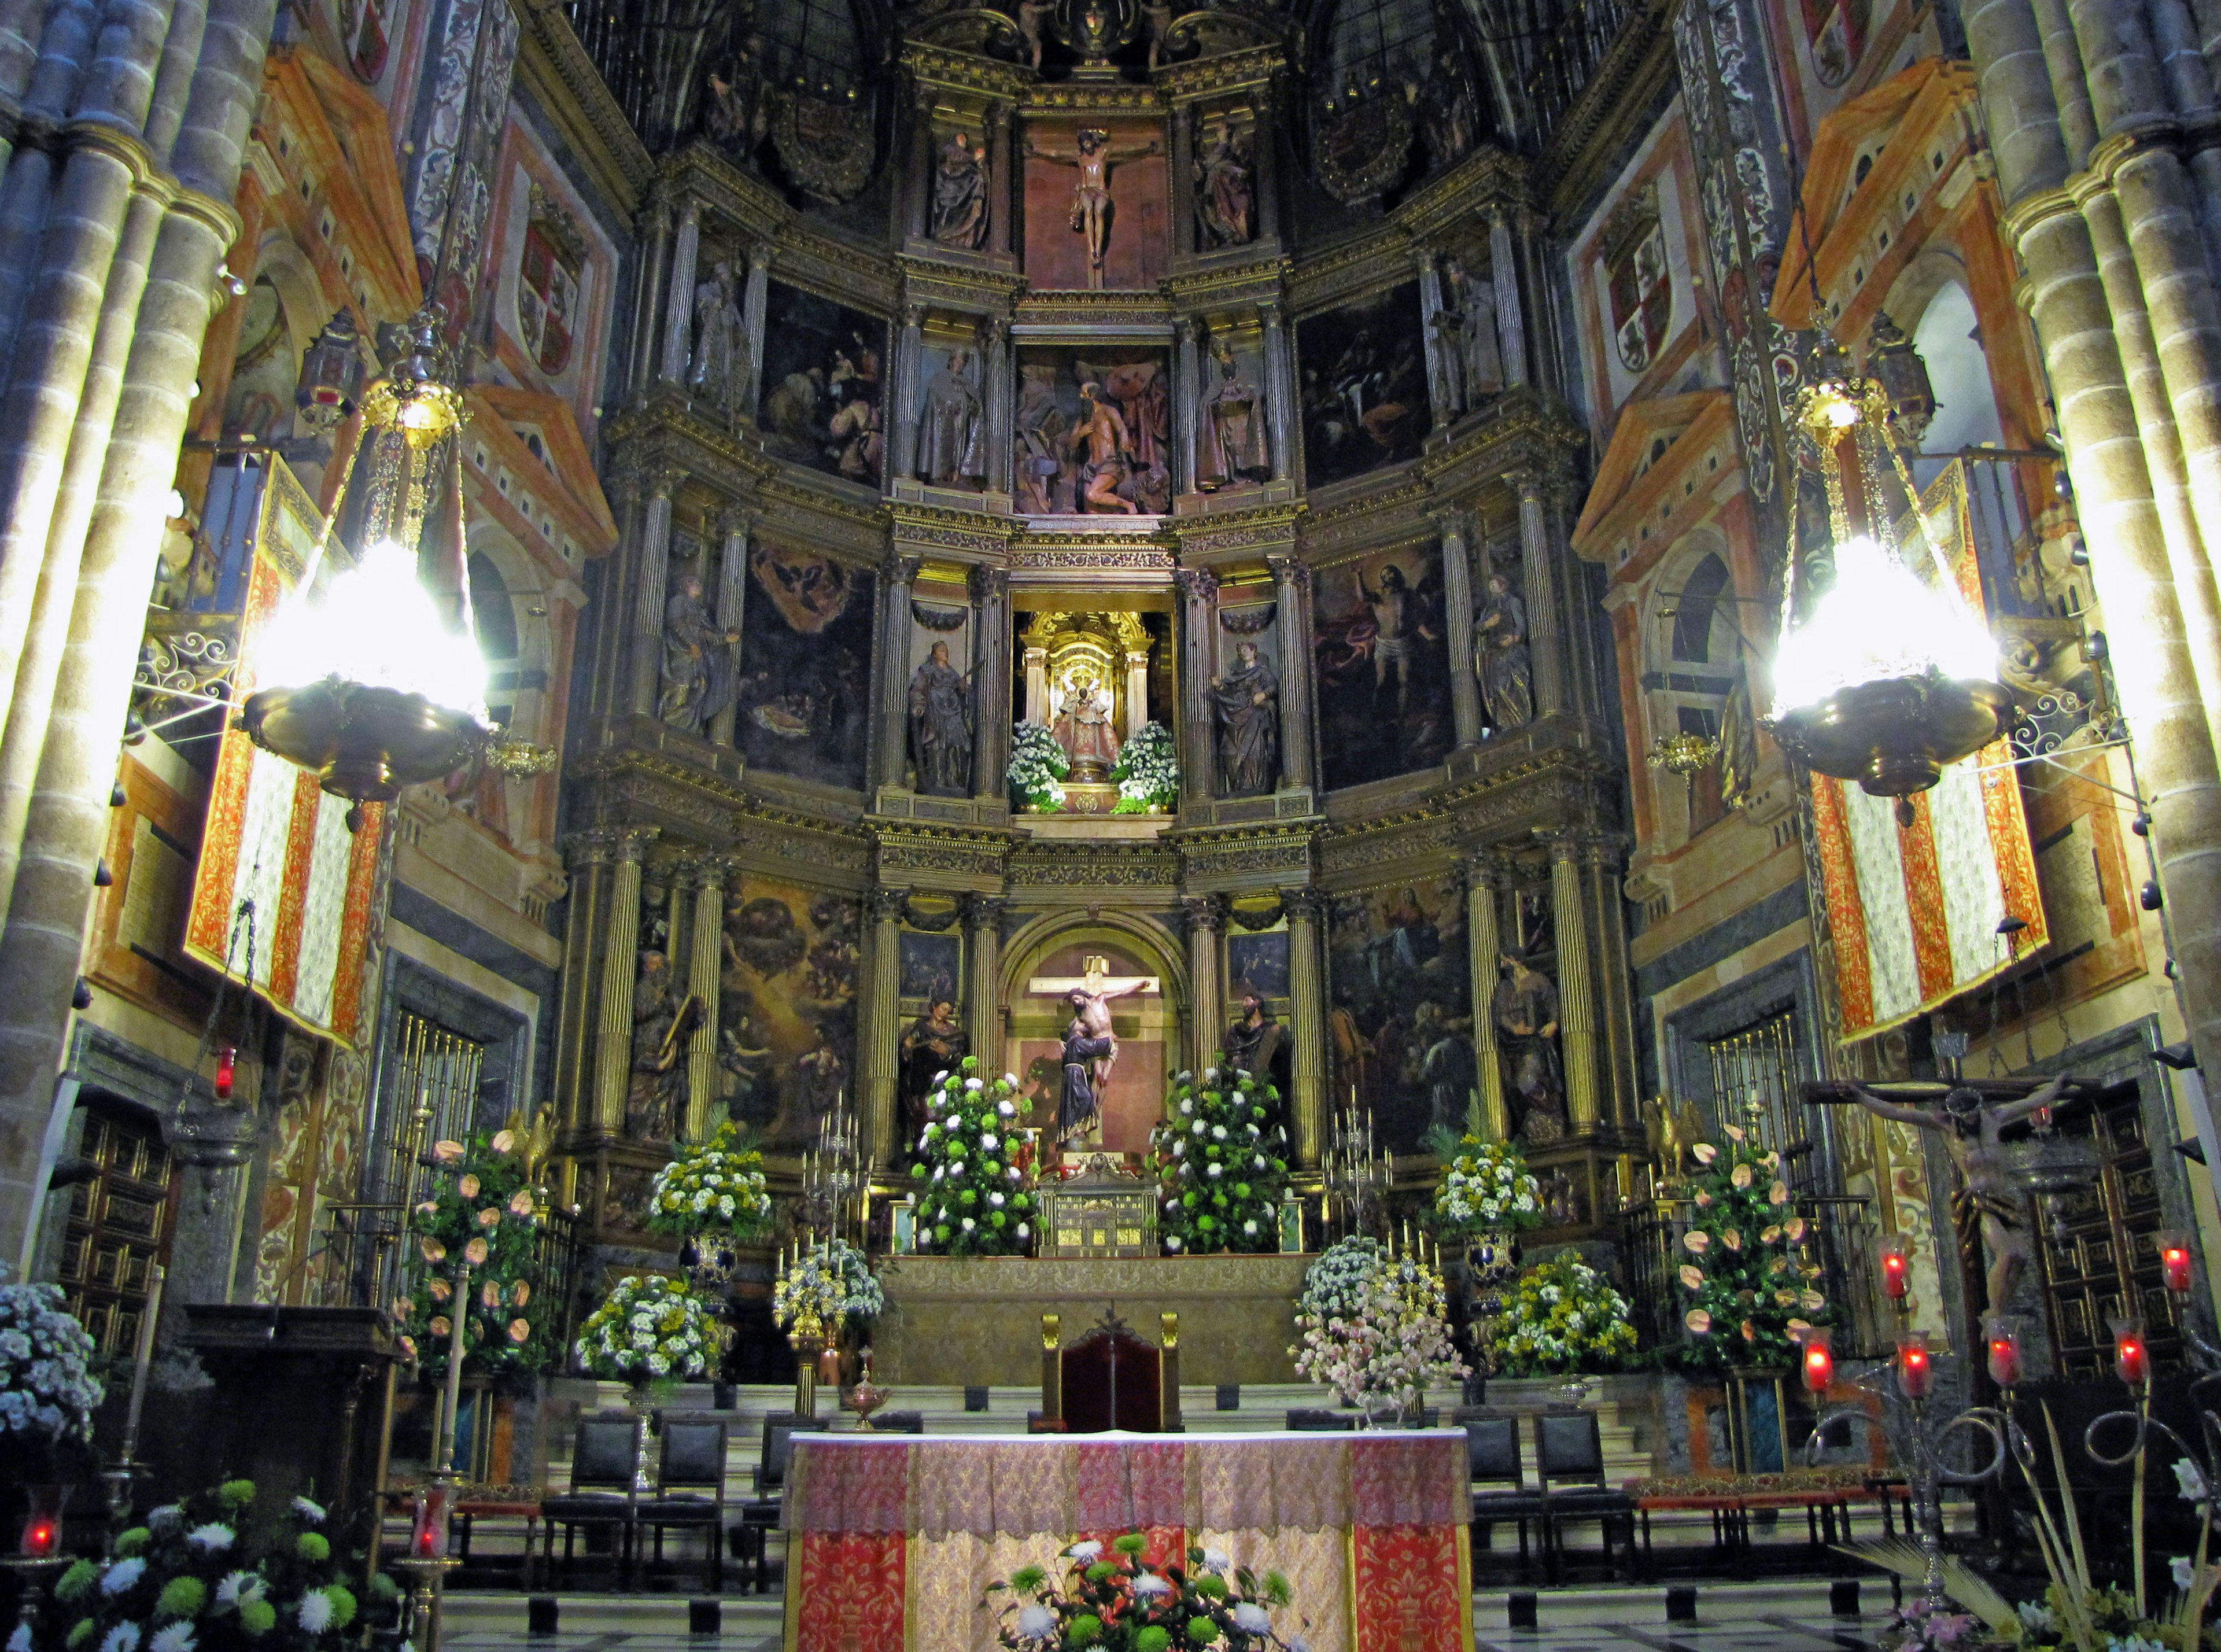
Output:
M1417 282L1295 324L1310 486L1419 457L1435 426Z

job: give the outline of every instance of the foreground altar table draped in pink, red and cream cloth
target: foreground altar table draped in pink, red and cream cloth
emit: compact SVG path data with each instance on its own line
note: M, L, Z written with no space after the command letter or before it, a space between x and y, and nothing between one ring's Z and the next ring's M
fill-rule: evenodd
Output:
M1135 1530L1284 1572L1313 1652L1473 1652L1470 1514L1464 1430L795 1434L786 1652L995 1652L991 1581Z

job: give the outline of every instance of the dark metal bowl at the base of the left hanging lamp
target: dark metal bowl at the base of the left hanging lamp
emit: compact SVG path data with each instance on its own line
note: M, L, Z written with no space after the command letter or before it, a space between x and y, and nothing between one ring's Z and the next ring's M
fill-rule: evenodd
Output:
M240 726L262 751L358 804L389 804L402 786L455 773L489 733L478 717L424 695L342 677L251 693Z

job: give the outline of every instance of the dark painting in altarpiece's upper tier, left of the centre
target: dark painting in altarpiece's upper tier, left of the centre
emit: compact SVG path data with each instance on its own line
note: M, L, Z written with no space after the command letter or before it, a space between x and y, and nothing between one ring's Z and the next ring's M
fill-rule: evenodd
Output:
M886 424L886 322L771 282L757 429L780 460L880 486Z

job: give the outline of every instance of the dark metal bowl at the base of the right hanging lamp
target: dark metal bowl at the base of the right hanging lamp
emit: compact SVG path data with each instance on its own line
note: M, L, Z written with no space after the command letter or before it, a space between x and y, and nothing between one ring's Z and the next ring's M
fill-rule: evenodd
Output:
M1781 748L1872 797L1910 797L2006 728L2012 695L1999 682L1883 677L1768 719Z

